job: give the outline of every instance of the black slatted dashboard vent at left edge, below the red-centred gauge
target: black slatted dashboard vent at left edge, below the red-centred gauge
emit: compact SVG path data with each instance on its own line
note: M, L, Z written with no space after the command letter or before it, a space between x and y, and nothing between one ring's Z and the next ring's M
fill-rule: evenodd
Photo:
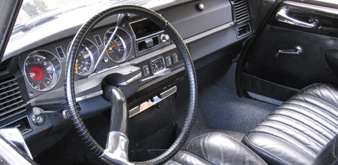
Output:
M0 121L25 111L25 103L14 76L0 80Z

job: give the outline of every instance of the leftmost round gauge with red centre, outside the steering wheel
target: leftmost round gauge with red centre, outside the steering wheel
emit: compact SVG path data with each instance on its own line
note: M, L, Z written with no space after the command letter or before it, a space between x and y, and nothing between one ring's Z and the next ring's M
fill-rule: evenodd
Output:
M61 74L60 61L48 51L35 51L25 60L25 77L37 91L53 88Z

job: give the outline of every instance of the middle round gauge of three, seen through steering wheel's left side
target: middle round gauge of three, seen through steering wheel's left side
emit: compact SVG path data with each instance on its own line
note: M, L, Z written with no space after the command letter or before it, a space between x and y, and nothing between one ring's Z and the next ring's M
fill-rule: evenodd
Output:
M70 49L68 46L68 51ZM67 52L68 52L67 51ZM99 49L89 39L85 39L80 46L75 60L75 73L80 76L87 76L91 74L94 69L94 56L99 55Z

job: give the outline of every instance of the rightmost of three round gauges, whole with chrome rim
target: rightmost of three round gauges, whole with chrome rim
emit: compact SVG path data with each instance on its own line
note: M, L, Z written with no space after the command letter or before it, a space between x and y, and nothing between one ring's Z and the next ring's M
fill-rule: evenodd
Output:
M108 47L104 51L106 51L108 57L113 62L123 62L130 55L132 40L125 30L119 28L113 39L108 43L114 30L115 27L108 29L106 34L104 34L104 46L108 44Z

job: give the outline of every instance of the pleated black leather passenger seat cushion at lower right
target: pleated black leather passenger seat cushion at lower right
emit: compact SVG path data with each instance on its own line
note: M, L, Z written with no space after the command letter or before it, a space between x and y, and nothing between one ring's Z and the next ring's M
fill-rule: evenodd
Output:
M338 89L314 84L249 131L243 143L268 164L313 164L337 133Z

